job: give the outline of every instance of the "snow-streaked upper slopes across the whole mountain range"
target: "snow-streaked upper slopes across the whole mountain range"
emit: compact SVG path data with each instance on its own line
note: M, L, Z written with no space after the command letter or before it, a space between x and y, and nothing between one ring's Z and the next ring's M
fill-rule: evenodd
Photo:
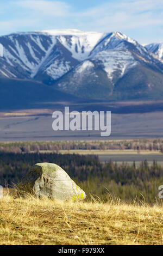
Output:
M0 36L0 44L4 47L0 77L52 84L75 69L80 78L87 71L96 80L94 69L98 67L114 81L140 62L162 69L159 60L148 51L162 56L161 44L145 48L120 32L106 34L77 29L21 32Z

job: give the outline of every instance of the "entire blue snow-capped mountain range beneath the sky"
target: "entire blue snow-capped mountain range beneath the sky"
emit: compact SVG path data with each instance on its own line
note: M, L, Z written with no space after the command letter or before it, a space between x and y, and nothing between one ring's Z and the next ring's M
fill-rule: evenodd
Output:
M22 32L0 36L0 44L2 78L38 81L94 99L142 97L163 85L163 64L153 54L160 57L161 46L143 47L120 32Z

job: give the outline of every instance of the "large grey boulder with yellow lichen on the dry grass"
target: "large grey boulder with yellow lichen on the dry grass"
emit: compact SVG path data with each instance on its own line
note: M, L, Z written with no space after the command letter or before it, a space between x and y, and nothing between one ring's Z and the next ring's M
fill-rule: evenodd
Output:
M18 194L61 200L84 200L85 192L54 163L36 163L17 186Z

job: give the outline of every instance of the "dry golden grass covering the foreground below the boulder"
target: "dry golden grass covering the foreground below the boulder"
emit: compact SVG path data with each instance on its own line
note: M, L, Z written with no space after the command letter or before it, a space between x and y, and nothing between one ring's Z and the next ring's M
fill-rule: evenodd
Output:
M0 199L1 245L162 245L162 206Z

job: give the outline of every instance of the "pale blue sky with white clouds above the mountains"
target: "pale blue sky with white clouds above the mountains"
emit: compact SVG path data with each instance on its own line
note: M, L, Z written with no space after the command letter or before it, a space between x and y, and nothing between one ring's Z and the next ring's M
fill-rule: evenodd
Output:
M118 31L141 44L163 42L163 0L5 0L0 35L74 28Z

